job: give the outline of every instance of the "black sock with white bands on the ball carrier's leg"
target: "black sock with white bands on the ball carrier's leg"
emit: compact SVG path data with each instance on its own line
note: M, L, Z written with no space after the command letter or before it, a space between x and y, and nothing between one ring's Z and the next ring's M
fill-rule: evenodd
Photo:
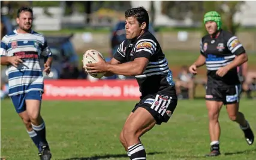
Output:
M146 151L143 144L138 143L128 147L131 159L146 159Z

